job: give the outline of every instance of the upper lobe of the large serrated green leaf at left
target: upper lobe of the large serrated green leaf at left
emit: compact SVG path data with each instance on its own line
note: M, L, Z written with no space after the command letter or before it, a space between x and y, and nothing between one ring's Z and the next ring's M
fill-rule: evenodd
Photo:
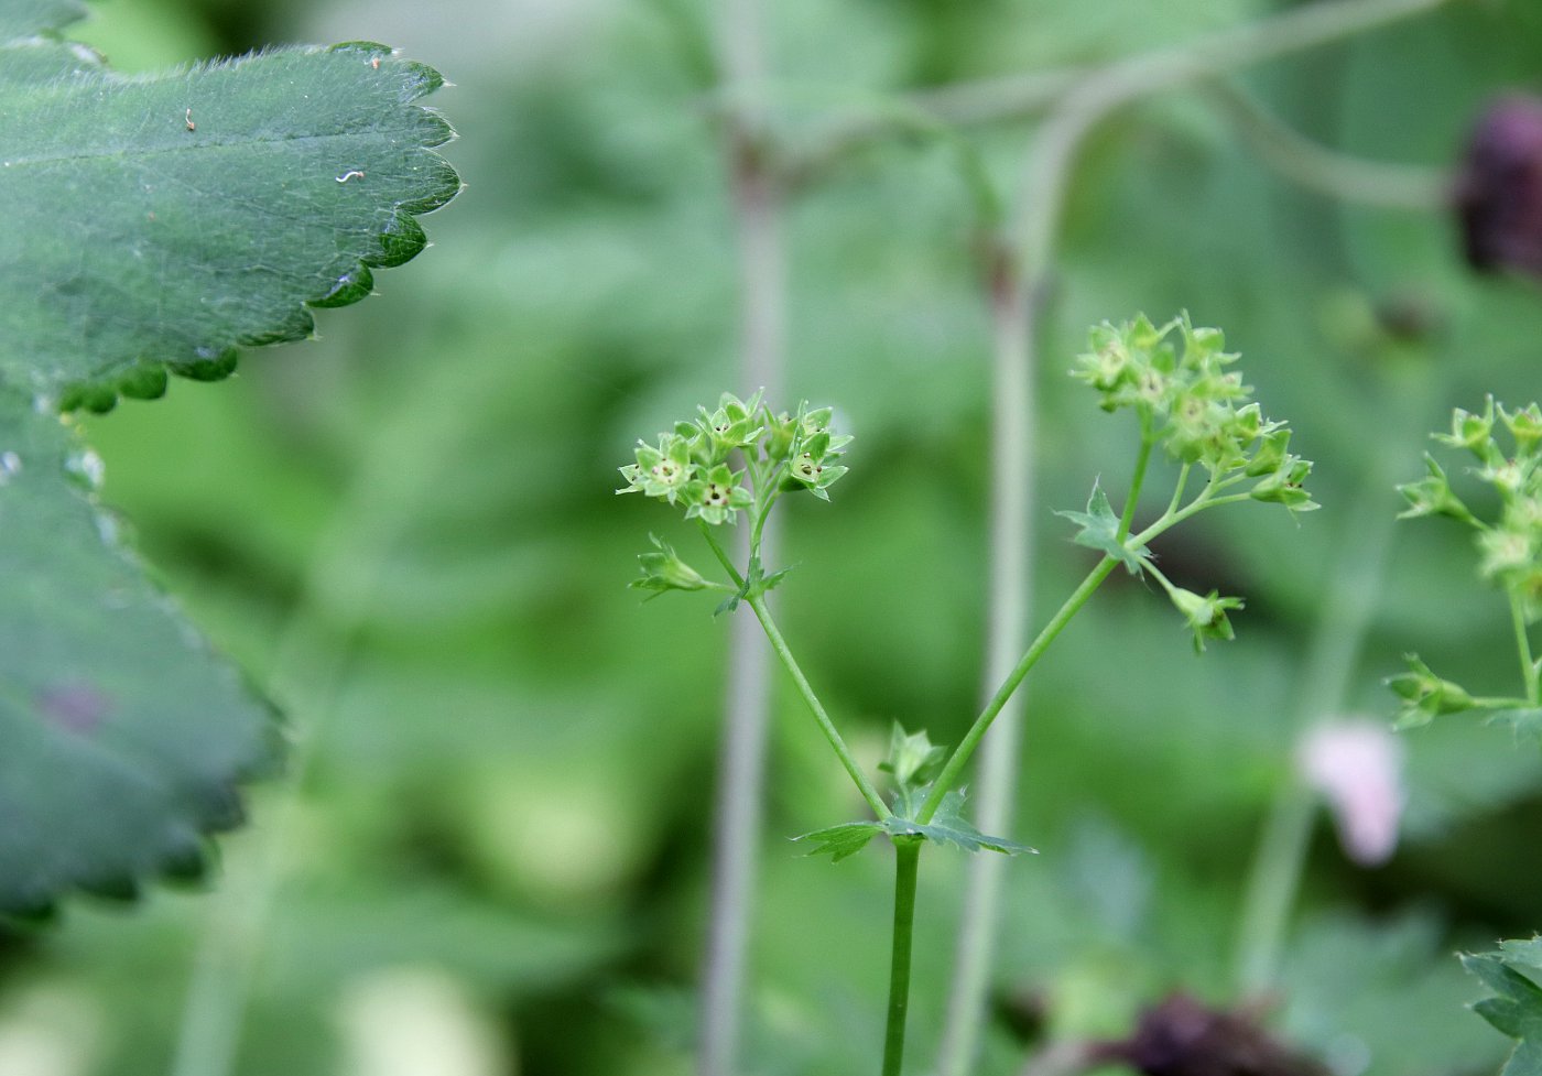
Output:
M100 409L145 362L222 376L308 336L307 305L369 294L460 190L413 103L443 80L381 45L126 79L29 40L0 71L0 379L29 395Z

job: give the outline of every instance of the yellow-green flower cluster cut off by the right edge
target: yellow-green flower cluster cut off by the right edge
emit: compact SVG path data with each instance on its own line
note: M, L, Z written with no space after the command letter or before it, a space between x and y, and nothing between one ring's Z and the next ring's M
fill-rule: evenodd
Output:
M1494 436L1500 425L1508 432L1508 452ZM1477 459L1471 473L1497 493L1499 518L1479 520L1429 455L1425 478L1397 487L1409 506L1402 518L1445 515L1474 527L1482 577L1516 595L1527 623L1534 623L1542 617L1542 409L1531 404L1511 412L1490 396L1482 415L1457 409L1451 432L1434 436Z

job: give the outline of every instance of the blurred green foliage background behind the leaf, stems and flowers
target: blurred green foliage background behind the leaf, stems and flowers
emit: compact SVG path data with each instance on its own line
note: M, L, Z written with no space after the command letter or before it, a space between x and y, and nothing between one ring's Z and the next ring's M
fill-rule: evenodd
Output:
M1289 6L782 0L768 49L793 123ZM635 438L754 388L736 384L715 15L697 0L111 0L83 25L125 71L390 43L453 83L430 103L461 134L446 153L469 187L379 298L321 311L319 341L86 422L105 496L165 586L291 703L310 746L298 795L253 789L214 893L80 899L48 930L0 934L0 1073L170 1071L230 984L248 991L244 1074L691 1071L726 626L708 598L643 606L626 589L649 530L694 546L611 490ZM1326 145L1446 168L1485 100L1536 88L1537 57L1534 5L1463 3L1243 82ZM1004 191L1030 137L971 134ZM870 760L896 720L956 740L978 695L990 324L973 239L953 154L908 139L842 160L786 217L785 381L857 441L834 504L788 513L782 620ZM1192 92L1093 139L1061 251L1041 610L1089 567L1052 509L1127 476L1132 430L1061 376L1104 318L1187 308L1224 327L1317 461L1325 507L1298 526L1217 513L1161 550L1192 584L1247 597L1235 643L1195 658L1160 595L1116 581L1030 680L1012 836L1042 856L1007 871L987 1074L1021 1068L1045 1004L1118 1036L1175 987L1235 1000L1241 880L1303 718L1329 717L1298 712L1301 666L1334 556L1363 538L1354 507L1397 512L1377 461L1417 478L1453 405L1536 398L1542 350L1542 294L1473 277L1449 219L1301 193ZM1457 527L1399 526L1346 712L1391 712L1380 680L1408 649L1508 691L1505 607ZM776 708L748 1071L870 1071L888 863L831 866L785 840L860 803L797 700ZM1320 820L1271 1022L1346 1076L1493 1071L1505 1042L1463 1010L1482 991L1449 953L1542 925L1542 766L1534 745L1462 721L1403 748L1389 863L1354 866ZM936 1045L964 865L941 851L922 873L914 1071ZM271 877L271 914L247 916Z

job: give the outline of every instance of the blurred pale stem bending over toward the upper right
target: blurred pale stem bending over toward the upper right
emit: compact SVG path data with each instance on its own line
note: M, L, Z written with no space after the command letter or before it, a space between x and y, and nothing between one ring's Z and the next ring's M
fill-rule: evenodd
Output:
M1155 92L1220 77L1229 71L1289 52L1315 48L1379 26L1433 11L1449 0L1340 0L1317 3L1249 26L1201 37L1187 45L1161 49L1112 65L1076 82L1058 99L1029 151L1015 202L1015 219L999 244L999 265L992 273L992 314L995 325L995 433L992 470L992 552L988 578L996 580L988 609L988 660L984 680L998 683L1022 651L1025 609L1032 593L1032 515L1033 381L1036 370L1038 305L1053 268L1055 236L1076 159L1087 136L1121 108ZM1021 80L1001 83L1002 113L1022 106ZM1041 106L1039 94L1053 80L1033 83L1027 102ZM990 114L979 92L962 97L976 116ZM1241 103L1238 103L1241 102ZM1264 123L1258 109L1244 109L1244 99L1234 96L1238 119L1255 146L1281 146L1286 134L1292 145L1266 156L1271 163L1284 159L1305 162L1286 174L1311 180L1317 190L1349 188L1379 196L1382 166L1345 159L1329 151L1301 154L1305 140L1283 125ZM1352 182L1351 182L1352 180ZM1389 190L1412 199L1436 197L1439 183L1426 176L1414 182L1399 170ZM1412 191L1412 196L1408 193ZM1422 203L1422 202L1420 202ZM1002 294L1002 288L1010 294ZM1001 658L999 655L1005 655ZM987 688L988 689L988 688ZM985 740L976 785L976 817L987 832L1008 828L1015 802L1015 777L1021 701L996 723L996 734ZM1294 885L1291 886L1294 889ZM948 1016L944 1028L938 1071L965 1076L979 1051L990 980L990 954L999 919L1001 865L975 857L961 916Z

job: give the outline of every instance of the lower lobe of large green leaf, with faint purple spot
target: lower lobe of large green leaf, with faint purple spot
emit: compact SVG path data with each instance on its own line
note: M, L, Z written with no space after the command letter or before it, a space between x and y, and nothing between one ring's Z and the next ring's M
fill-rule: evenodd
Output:
M270 711L93 504L99 466L0 390L0 914L196 874L276 758Z

